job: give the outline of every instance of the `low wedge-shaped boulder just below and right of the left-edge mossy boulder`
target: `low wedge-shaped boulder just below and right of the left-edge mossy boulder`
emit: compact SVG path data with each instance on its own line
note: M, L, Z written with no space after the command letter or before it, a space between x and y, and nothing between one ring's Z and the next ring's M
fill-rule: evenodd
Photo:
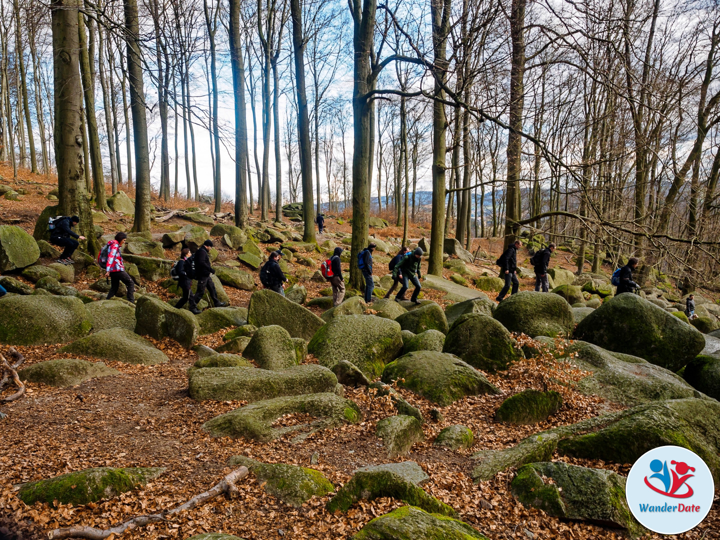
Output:
M73 341L58 352L145 366L165 364L168 361L165 353L158 350L150 341L125 328L100 330Z

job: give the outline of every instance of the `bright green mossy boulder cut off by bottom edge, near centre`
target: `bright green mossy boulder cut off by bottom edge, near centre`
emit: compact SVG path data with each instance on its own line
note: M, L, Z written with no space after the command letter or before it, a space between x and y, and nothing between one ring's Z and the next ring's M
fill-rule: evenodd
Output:
M352 540L488 540L467 523L416 506L402 506L374 518Z

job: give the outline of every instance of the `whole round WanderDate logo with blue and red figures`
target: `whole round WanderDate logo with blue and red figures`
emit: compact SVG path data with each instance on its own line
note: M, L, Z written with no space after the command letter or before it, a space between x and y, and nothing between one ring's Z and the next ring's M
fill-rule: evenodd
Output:
M680 534L705 519L715 482L703 460L682 446L659 446L632 466L625 486L632 515L659 534Z

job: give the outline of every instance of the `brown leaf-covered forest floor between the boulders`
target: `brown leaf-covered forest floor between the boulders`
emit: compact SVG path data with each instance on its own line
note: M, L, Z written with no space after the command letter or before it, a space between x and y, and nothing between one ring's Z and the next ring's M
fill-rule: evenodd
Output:
M35 226L48 201L44 198L54 179L45 179L22 171L21 183L9 181L12 169L0 164L3 184L33 187L32 194L20 202L0 199L0 223L17 224L29 230ZM27 184L26 182L40 182ZM46 187L45 187L46 186ZM40 187L43 194L36 193ZM130 193L132 196L132 193ZM170 202L155 200L158 207L182 208L194 205L186 199ZM199 204L200 207L204 205ZM230 210L230 209L228 209ZM182 222L184 223L184 222ZM111 232L114 222L104 224ZM328 220L330 231L349 232L348 225L336 225ZM162 232L158 230L153 232ZM414 226L411 236L420 238L425 231ZM381 238L397 237L395 228L377 231ZM400 230L402 235L402 230ZM492 266L502 246L499 240L483 240L483 248L490 259L470 269L477 274L497 270ZM477 244L476 244L477 247ZM168 253L176 256L176 253ZM220 258L229 258L230 251L221 251ZM319 256L318 256L319 257ZM571 264L561 266L572 269ZM78 276L76 287L82 289L84 276ZM308 297L316 295L322 284L302 282ZM521 279L521 289L529 289L531 279ZM148 290L166 294L156 284L143 283ZM226 288L233 305L247 306L249 292ZM426 289L427 292L427 289ZM426 297L441 300L440 295L427 292ZM489 293L492 294L492 293ZM492 296L491 296L492 297ZM222 341L223 330L203 336L200 343L216 346ZM299 444L287 439L260 444L245 439L212 438L202 431L206 420L243 405L243 402L195 402L187 395L186 370L197 360L194 351L181 348L169 339L155 341L170 361L158 366L135 366L106 362L121 374L92 379L76 387L58 389L42 384L27 384L27 395L1 408L8 418L0 421L0 540L47 538L53 528L73 525L107 527L132 516L173 508L194 495L217 484L230 472L230 456L245 455L264 462L282 462L310 466L310 457L317 452L319 461L313 465L335 485L347 482L354 469L368 464L413 460L430 476L423 487L438 499L448 503L467 521L493 540L501 539L616 539L621 531L588 523L560 521L546 516L541 510L523 508L510 494L512 469L498 474L493 480L476 485L470 478L473 460L470 455L481 449L500 449L518 443L522 438L554 426L575 423L583 418L616 410L618 406L599 397L578 394L567 386L549 382L551 359L527 359L513 364L508 371L488 375L504 396L465 397L444 408L406 390L403 397L420 408L423 417L430 418L430 410L438 408L444 418L426 421L423 432L426 441L415 444L409 456L387 459L375 433L378 420L394 414L387 398L369 395L366 390L346 388L346 397L361 409L362 420L356 426L342 426L309 436ZM17 347L27 365L48 359L76 357L60 354L61 345ZM5 353L6 347L0 347ZM312 356L307 363L314 361ZM564 402L557 415L536 426L505 426L496 423L495 410L508 395L526 388L549 387L562 392ZM290 420L291 419L286 419ZM472 429L475 442L471 449L451 451L433 446L436 434L446 426L463 424ZM627 474L629 465L590 460L569 460L588 467L602 467ZM40 480L87 467L166 467L158 479L140 490L127 492L118 498L84 506L49 505L36 503L27 506L17 498L15 486L22 482ZM187 539L202 532L225 532L247 540L264 539L349 539L364 523L397 508L403 503L391 498L372 502L361 501L347 513L329 513L325 503L330 497L314 497L301 508L293 508L267 494L250 474L238 483L239 495L228 499L224 495L209 503L181 514L168 522L136 528L122 535L123 539ZM716 498L717 500L717 498ZM662 538L652 534L647 538ZM708 517L695 531L672 536L678 539L720 538L720 510L715 504Z

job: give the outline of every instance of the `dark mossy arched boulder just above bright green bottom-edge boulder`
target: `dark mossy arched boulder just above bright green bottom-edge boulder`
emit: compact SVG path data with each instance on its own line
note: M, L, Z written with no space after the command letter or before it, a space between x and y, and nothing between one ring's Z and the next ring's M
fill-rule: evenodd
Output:
M375 500L380 497L400 499L403 503L443 516L457 516L453 508L428 495L422 487L410 482L402 474L381 467L356 471L351 480L328 501L327 508L330 512L347 512L361 499Z

